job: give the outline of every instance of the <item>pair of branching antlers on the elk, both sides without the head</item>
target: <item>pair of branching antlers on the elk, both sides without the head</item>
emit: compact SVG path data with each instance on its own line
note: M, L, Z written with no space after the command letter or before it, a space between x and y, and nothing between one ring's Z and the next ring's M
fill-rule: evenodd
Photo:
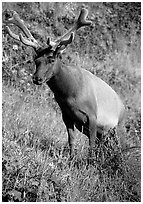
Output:
M88 10L85 8L81 9L80 15L74 24L74 26L63 36L61 36L58 40L55 42L50 41L50 38L48 38L47 44L48 46L51 46L54 50L57 48L61 48L63 45L66 47L68 44L70 44L74 38L75 32L83 27L83 26L89 26L91 24L91 21L86 20L86 17L88 15ZM16 11L13 12L13 17L8 19L4 22L5 24L15 24L18 26L23 33L25 34L26 38L23 37L22 34L16 35L13 33L9 26L6 26L6 30L8 34L14 38L15 40L21 41L23 44L31 46L35 48L36 51L41 48L41 45L37 42L37 40L32 36L26 25L24 24L24 21L20 19L19 15L16 13Z

